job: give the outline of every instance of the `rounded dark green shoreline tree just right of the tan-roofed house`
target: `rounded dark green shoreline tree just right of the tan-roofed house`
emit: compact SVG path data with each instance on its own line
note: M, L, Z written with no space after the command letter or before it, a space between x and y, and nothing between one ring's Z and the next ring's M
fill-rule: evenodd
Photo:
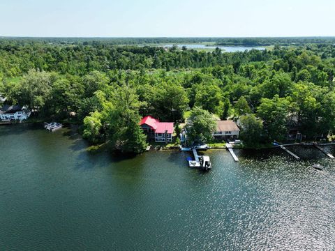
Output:
M256 119L254 114L241 116L239 119L241 133L239 137L243 140L245 146L257 146L262 137L262 121Z

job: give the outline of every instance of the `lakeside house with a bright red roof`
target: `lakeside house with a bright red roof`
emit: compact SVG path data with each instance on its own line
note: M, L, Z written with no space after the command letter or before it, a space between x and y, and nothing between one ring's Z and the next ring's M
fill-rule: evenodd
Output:
M146 116L141 120L140 126L155 142L172 142L173 122L160 122L158 119Z

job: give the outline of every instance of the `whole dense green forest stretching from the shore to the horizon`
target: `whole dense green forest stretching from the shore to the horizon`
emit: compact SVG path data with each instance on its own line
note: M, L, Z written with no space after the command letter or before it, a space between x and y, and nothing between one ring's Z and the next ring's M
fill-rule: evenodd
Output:
M306 140L335 132L334 45L223 53L22 41L0 40L1 96L40 118L75 114L94 144L140 153L141 116L183 122L190 109L239 119L246 146L284 141L290 128Z

